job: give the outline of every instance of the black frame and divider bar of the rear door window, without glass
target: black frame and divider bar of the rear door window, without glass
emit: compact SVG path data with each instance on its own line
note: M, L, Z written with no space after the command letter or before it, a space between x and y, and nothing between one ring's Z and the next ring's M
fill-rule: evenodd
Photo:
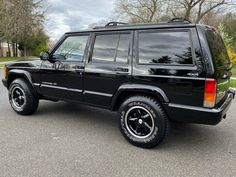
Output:
M129 36L129 49L128 49L128 55L127 55L127 62L117 62L116 58L117 58L117 51L118 51L118 47L119 47L119 41L116 45L116 52L114 55L114 60L113 61L93 61L92 57L93 57L93 51L94 51L94 45L96 42L96 36L98 35L122 35L122 34L128 34ZM120 39L120 37L119 37ZM89 53L89 58L88 58L88 63L89 64L115 64L115 65L129 65L130 64L130 51L132 50L132 31L109 31L109 32L94 32L93 33L93 37L92 37L92 42L91 42L91 48L90 48L90 53Z

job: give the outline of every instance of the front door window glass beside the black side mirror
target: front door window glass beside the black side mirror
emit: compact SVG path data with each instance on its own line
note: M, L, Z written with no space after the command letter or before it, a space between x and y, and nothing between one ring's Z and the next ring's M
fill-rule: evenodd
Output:
M70 36L57 48L53 58L57 60L83 61L88 36Z

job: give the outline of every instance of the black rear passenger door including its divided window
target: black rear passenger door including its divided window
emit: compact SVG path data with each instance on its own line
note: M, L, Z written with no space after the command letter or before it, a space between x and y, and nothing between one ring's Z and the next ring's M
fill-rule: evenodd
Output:
M94 33L84 72L84 101L109 107L118 87L131 78L132 32Z

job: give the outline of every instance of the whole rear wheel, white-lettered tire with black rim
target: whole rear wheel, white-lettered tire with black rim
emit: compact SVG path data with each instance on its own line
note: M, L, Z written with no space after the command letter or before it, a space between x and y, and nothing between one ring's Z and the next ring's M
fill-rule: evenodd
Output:
M133 145L153 148L169 131L169 120L162 106L148 96L132 96L119 109L123 136Z

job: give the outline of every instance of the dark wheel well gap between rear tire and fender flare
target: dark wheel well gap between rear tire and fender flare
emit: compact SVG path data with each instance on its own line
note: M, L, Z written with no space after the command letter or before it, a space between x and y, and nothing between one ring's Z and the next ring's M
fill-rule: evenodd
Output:
M161 98L158 95L156 95L155 93L149 93L149 92L145 92L145 91L135 91L135 92L134 91L123 91L122 93L119 94L119 97L114 104L113 111L117 111L119 109L119 107L121 106L121 104L128 97L132 97L132 96L136 96L136 95L149 96L149 97L152 97L155 100L159 101L160 103L162 103Z

